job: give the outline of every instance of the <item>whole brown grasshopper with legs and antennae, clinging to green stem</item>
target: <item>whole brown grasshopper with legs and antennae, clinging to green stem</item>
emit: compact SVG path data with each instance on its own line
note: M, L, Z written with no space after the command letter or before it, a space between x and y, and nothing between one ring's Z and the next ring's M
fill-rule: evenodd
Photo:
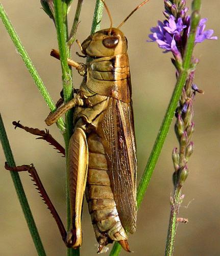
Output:
M68 231L32 165L6 168L16 172L27 170L41 197L51 210L67 247L82 244L81 214L84 191L94 228L98 252L113 241L130 251L127 233L136 229L136 145L131 100L131 77L127 54L128 41L120 27L145 0L117 27L97 31L80 45L89 57L86 64L68 59L68 64L83 76L77 95L69 102L57 103L57 110L45 119L55 123L74 108L74 133L68 147L68 186L71 225ZM106 6L106 5L105 5ZM108 8L106 7L107 12ZM53 50L52 56L59 58ZM64 148L44 131L13 122L27 132L39 135L65 154Z

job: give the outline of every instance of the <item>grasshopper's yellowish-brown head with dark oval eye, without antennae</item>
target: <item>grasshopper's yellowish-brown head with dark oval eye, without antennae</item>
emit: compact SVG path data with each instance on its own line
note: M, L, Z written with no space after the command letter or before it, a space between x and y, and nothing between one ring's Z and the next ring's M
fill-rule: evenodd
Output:
M90 35L82 43L82 52L89 57L108 57L127 52L128 41L117 28L103 29Z

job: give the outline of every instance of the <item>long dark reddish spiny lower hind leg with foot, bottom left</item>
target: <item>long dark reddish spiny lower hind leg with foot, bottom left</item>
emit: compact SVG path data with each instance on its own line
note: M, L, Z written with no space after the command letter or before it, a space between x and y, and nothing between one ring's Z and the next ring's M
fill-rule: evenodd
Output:
M27 171L29 174L30 174L30 177L32 178L32 181L34 181L34 185L37 186L36 189L38 190L38 193L40 194L40 197L42 197L44 203L47 205L47 208L51 211L51 214L53 215L56 223L57 223L57 226L60 230L60 234L61 234L61 237L62 237L62 240L63 242L65 243L65 245L67 247L71 247L72 246L72 240L67 242L67 233L66 233L66 229L60 219L60 216L58 215L53 203L51 202L50 198L48 197L47 193L46 193L46 190L44 189L43 187L43 184L37 174L37 171L34 167L33 164L30 164L30 165L27 165L27 164L24 164L24 165L20 165L20 166L15 166L15 167L10 167L8 165L8 163L6 162L5 163L5 168L7 170L10 170L12 172L25 172ZM71 234L71 237L73 238L74 237L74 234Z

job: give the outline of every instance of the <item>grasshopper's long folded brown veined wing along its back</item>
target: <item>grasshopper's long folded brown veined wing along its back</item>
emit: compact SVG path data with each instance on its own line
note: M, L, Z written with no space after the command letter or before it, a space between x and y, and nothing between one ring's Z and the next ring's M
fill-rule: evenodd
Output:
M103 145L107 154L111 188L123 227L136 229L136 146L132 103L109 99L102 120Z

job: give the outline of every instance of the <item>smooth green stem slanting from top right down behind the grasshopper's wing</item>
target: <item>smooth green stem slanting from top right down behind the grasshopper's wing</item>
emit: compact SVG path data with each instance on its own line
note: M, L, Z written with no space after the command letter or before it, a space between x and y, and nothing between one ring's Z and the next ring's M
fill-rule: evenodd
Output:
M193 2L198 2L198 1L195 0ZM192 59L192 52L193 52L193 48L194 48L195 32L197 30L197 26L198 26L198 23L200 20L200 16L198 13L199 9L200 9L200 7L197 10L193 10L193 13L191 16L191 24L193 24L193 26L191 26L191 31L190 31L190 34L189 34L189 37L187 40L186 50L185 50L185 54L184 54L184 58L183 58L183 66L180 71L172 98L170 99L168 108L166 110L166 114L164 116L163 122L160 126L160 130L158 132L153 149L151 151L151 155L148 159L148 163L146 164L146 167L144 169L140 183L138 185L138 189L137 189L137 207L138 208L140 207L140 204L143 200L145 191L148 188L148 185L150 183L151 177L152 177L154 169L155 169L155 165L159 158L159 155L162 150L162 146L164 144L167 133L169 131L169 126L173 120L183 87L185 85L188 74L192 68L191 67L191 59ZM175 218L173 218L173 221L175 221ZM175 226L175 225L173 225L173 226ZM172 234L172 237L173 237L173 235L174 234ZM109 255L117 256L117 255L119 255L120 250L121 250L120 245L118 243L114 243L114 246Z

